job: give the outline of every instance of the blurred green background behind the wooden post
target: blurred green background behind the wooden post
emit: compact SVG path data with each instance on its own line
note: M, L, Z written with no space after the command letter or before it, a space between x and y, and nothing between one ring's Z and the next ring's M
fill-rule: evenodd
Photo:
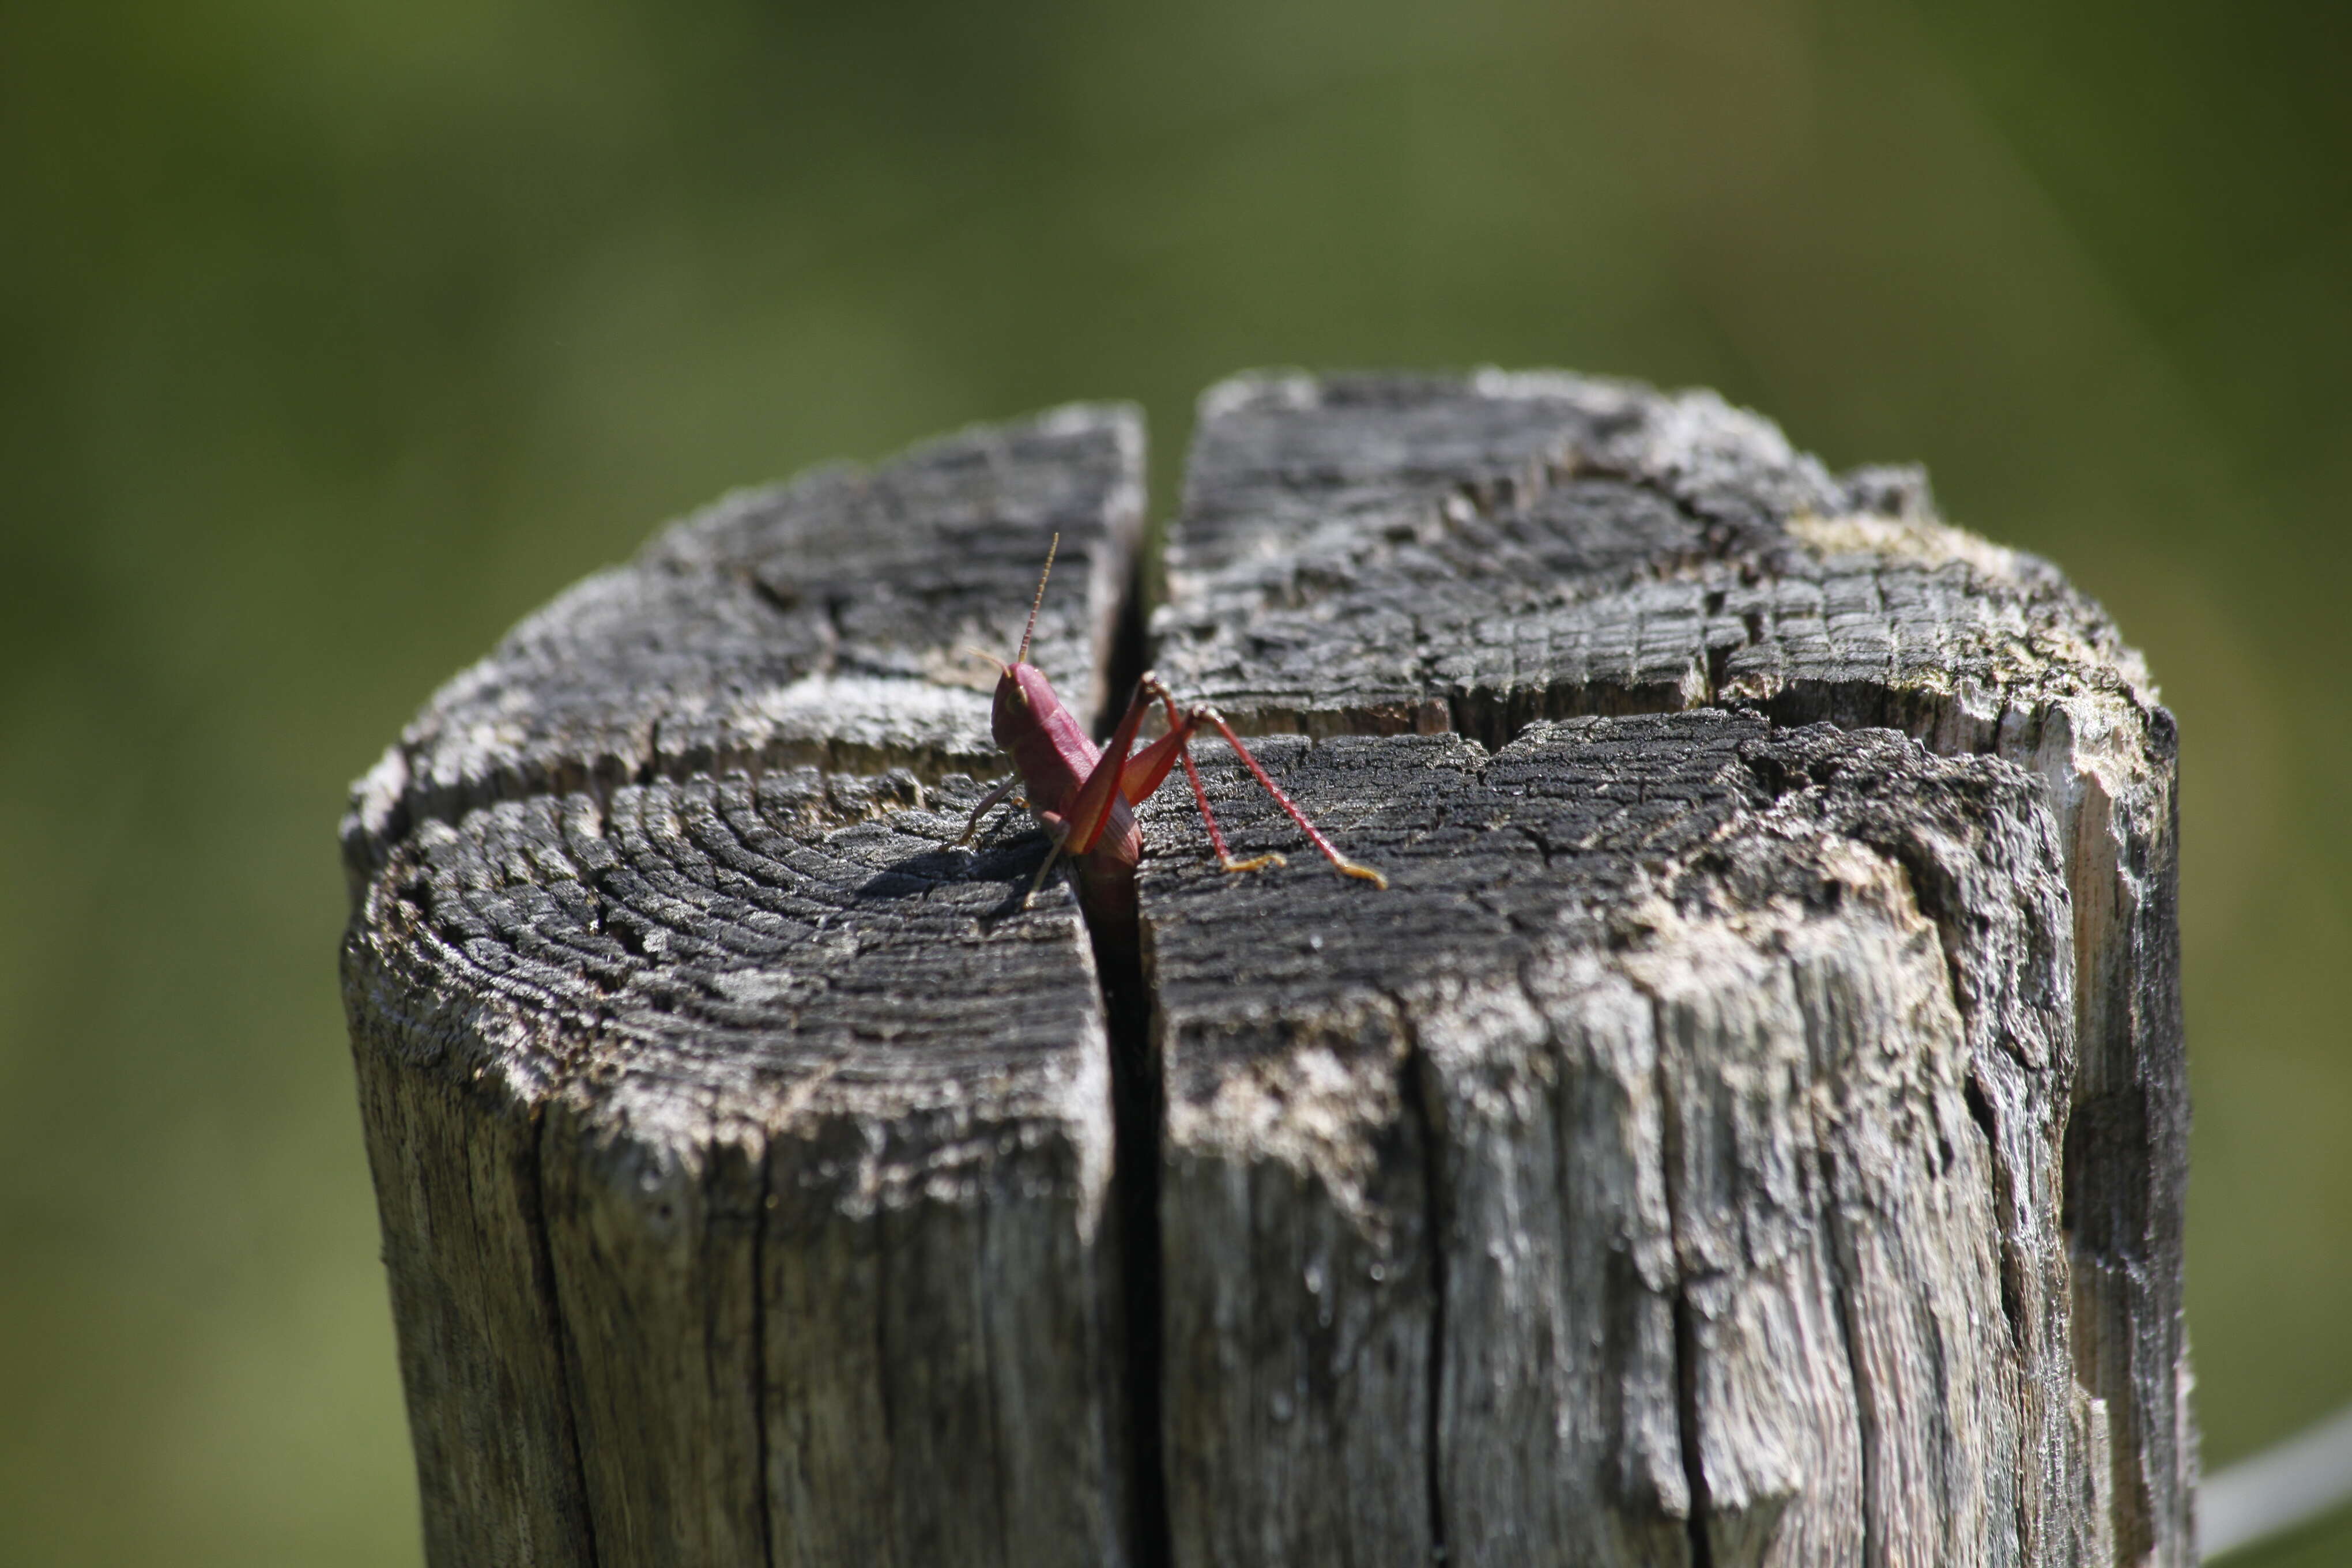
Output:
M830 456L1237 367L1919 458L2185 745L2209 1462L2352 1399L2352 7L0 12L0 1561L414 1563L343 785ZM2352 1523L2265 1563L2352 1561Z

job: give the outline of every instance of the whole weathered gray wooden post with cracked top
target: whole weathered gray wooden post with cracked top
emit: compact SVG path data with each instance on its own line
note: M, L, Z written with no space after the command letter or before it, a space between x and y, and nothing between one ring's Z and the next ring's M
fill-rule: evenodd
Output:
M734 496L358 788L435 1563L2192 1561L2173 731L1710 395L1211 390L1150 656L1392 889L953 849L1127 409ZM1237 851L1296 849L1204 771Z

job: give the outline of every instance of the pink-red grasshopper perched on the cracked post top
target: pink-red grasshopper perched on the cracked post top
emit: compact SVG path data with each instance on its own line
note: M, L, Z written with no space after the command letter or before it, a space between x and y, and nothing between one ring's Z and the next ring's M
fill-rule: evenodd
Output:
M981 658L1002 672L990 726L995 729L997 748L1014 759L1014 773L971 809L971 820L964 823L964 837L957 846L971 842L981 818L993 806L1002 804L1014 788L1025 785L1025 804L1037 813L1037 823L1054 846L1047 851L1044 865L1037 867L1037 877L1021 903L1028 905L1037 896L1047 872L1054 870L1061 856L1070 856L1077 863L1082 898L1096 891L1127 891L1134 886L1136 858L1143 853L1143 835L1136 830L1136 806L1150 799L1152 790L1167 780L1171 766L1183 762L1183 776L1192 785L1192 802L1200 806L1200 820L1209 830L1209 846L1216 851L1218 867L1254 872L1268 865L1284 865L1282 856L1272 853L1235 860L1225 849L1225 835L1216 825L1216 813L1209 811L1209 795L1200 788L1200 769L1192 766L1190 750L1195 731L1202 724L1214 724L1251 778L1298 823L1298 830L1322 851L1324 860L1348 877L1362 877L1385 889L1388 877L1338 853L1331 839L1317 832L1315 823L1282 792L1282 785L1265 776L1258 759L1232 733L1225 715L1216 708L1176 708L1176 698L1169 696L1169 689L1155 675L1145 675L1136 684L1136 696L1127 705L1127 715L1112 731L1110 743L1101 752L1094 750L1094 741L1080 729L1077 717L1063 705L1044 670L1028 663L1030 635L1037 630L1037 609L1044 604L1044 583L1054 574L1054 552L1058 548L1061 534L1054 536L1054 543L1044 552L1037 597L1030 602L1028 625L1021 628L1021 651L1014 654L1009 665L995 654L981 654ZM1143 717L1152 710L1155 701L1167 710L1169 731L1136 752L1136 733L1143 729Z

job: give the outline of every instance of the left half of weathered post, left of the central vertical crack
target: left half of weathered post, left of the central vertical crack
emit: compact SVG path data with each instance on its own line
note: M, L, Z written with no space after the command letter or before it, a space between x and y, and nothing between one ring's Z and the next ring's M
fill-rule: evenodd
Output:
M1018 639L1058 529L1037 658L1087 689L1141 461L1070 409L736 496L362 783L435 1563L1124 1561L1101 990L1065 893L1007 919L1035 844L950 844L993 752L955 649Z

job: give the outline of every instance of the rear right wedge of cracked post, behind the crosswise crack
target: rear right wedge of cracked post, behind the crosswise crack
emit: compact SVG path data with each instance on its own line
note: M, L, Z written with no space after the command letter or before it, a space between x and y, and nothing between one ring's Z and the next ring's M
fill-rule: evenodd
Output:
M2079 1302L2044 1338L2107 1408L2119 1561L2192 1561L2176 738L2105 614L1936 520L1917 470L1830 475L1710 393L1242 376L1202 397L1185 484L1155 656L1244 731L1498 748L1545 717L1717 708L2042 778L2074 1065L2053 1112L1990 1067L1983 1093L1999 1138L2049 1117L2063 1145L2034 1175L2056 1194L2006 1201L2060 1208Z

